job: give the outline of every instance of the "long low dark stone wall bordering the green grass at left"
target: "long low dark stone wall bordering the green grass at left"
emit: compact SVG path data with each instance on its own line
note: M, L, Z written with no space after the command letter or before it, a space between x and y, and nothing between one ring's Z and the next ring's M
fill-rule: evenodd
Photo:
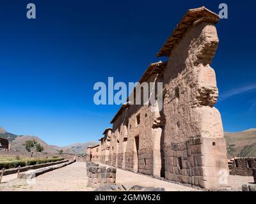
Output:
M66 162L68 162L68 159L64 159L61 161L54 161L54 162L45 163L45 164L35 164L35 165L31 165L31 166L23 166L23 167L20 167L20 172L24 172L24 171L28 171L28 170L36 170L38 168L44 168L47 166L62 164L62 163L66 163ZM13 173L18 173L18 171L19 171L19 168L10 168L8 170L4 170L3 175L10 175Z

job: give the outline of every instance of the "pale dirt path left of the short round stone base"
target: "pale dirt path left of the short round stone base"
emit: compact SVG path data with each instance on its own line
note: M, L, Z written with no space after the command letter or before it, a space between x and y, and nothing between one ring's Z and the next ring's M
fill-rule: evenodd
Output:
M76 162L58 170L49 171L35 179L3 177L0 191L92 191L87 185L86 163Z

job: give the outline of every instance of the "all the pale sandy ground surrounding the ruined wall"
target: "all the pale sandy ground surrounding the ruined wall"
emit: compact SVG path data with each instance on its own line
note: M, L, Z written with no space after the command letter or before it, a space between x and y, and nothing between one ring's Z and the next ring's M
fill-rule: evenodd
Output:
M0 191L93 191L94 189L86 187L87 179L86 163L76 162L44 173L32 180L17 179L17 174L6 175L0 184ZM241 190L241 185L253 182L253 177L230 176L229 180L229 186ZM164 187L166 191L197 191L191 187L172 184L122 169L116 171L116 184Z

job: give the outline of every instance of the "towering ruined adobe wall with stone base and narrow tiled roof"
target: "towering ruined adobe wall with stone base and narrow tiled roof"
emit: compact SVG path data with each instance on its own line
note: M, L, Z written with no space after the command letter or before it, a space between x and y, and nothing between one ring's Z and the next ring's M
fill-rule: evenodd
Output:
M100 161L209 189L225 184L226 144L210 66L219 20L204 7L186 12L157 53L168 61L150 64L139 81L163 82L163 108L122 105L100 139Z

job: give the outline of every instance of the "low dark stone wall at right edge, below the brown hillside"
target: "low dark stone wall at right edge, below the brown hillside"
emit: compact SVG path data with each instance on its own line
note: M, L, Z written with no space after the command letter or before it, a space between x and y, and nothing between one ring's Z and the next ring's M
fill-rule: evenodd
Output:
M256 168L256 157L239 157L231 159L228 165L230 175L253 176L253 169Z

